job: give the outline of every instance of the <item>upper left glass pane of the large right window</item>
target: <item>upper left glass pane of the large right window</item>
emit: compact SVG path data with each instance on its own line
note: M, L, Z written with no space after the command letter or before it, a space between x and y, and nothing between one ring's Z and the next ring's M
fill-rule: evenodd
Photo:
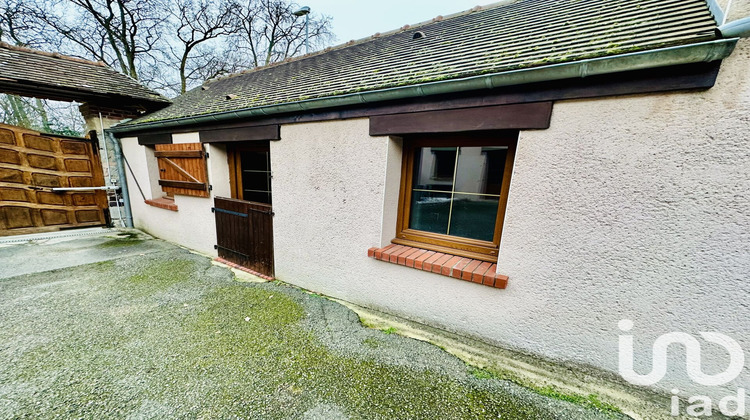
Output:
M455 147L419 147L414 162L412 188L450 191L456 168Z

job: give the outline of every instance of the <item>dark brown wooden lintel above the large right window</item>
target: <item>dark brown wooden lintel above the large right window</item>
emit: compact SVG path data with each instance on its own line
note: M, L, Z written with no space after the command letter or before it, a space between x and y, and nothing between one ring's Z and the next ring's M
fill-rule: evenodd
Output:
M497 105L370 117L370 135L549 128L552 102Z

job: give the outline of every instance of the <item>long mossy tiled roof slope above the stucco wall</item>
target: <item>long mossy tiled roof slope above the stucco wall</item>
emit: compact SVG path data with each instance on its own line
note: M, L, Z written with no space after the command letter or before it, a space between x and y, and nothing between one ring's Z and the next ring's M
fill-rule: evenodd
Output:
M506 2L209 81L130 124L710 41L715 28L704 0Z

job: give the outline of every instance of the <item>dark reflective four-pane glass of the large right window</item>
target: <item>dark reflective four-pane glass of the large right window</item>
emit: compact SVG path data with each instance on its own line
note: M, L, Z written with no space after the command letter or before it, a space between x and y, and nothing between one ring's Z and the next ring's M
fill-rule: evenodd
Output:
M418 148L409 228L492 241L507 153L501 146Z

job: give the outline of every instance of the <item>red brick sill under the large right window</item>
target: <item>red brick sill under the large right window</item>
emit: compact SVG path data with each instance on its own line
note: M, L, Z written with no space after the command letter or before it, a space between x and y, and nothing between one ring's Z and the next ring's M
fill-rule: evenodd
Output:
M486 261L396 244L384 248L370 248L367 256L498 289L505 289L508 285L508 276L497 274L497 264Z

